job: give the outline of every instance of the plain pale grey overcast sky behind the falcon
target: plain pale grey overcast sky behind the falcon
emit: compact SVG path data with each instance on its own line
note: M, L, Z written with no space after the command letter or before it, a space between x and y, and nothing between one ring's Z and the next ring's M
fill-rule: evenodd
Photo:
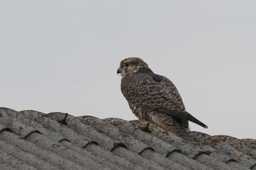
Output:
M256 138L256 1L0 0L0 106L134 120L120 61L178 88L195 131Z

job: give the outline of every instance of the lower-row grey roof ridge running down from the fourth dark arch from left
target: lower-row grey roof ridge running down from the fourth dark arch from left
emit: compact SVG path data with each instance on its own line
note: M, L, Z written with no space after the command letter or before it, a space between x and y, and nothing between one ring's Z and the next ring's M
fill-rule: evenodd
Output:
M129 162L127 159L121 158L118 155L115 155L113 152L109 152L108 150L103 149L102 147L99 147L97 144L91 143L88 144L85 148L85 150L101 156L102 158L105 158L106 160L110 161L111 163L116 164L117 166L121 166L124 169L138 169L142 170L140 166Z

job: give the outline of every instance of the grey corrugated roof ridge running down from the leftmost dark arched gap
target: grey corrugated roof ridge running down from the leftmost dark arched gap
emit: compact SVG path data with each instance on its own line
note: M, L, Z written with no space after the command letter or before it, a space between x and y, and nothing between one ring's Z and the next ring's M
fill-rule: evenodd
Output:
M35 155L37 158L40 158L53 166L59 167L60 169L70 169L70 167L73 167L74 169L84 169L77 163L64 159L51 151L43 150L24 139L20 139L19 136L12 134L10 131L2 131L0 140L18 146L21 150L29 152L31 155Z

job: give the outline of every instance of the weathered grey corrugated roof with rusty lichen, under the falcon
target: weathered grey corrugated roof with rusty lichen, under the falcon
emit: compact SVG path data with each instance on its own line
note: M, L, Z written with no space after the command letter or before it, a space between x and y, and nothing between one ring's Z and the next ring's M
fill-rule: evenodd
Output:
M0 108L0 169L256 169L256 140L192 131L196 144L140 120Z

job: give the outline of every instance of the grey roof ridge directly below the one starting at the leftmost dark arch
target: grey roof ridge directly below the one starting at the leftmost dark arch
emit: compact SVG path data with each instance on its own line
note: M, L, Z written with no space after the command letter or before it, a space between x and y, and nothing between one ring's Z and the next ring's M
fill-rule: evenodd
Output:
M41 159L35 157L34 155L31 155L28 152L20 150L19 147L12 146L11 144L8 144L7 142L4 141L0 141L0 150L2 152L7 153L8 155L12 155L13 157L19 159L20 161L22 161L22 163L27 163L31 166L34 166L36 169L58 169L57 167L51 165L50 163L42 161Z

